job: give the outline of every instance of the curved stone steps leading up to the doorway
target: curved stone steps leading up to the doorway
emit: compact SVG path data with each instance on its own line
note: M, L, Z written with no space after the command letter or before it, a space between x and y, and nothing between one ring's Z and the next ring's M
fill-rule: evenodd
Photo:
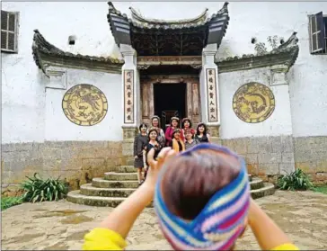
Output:
M275 193L273 184L249 175L253 199ZM134 166L119 166L115 172L104 174L104 178L93 178L92 184L81 185L80 190L67 194L67 201L99 207L117 207L138 187ZM149 205L152 207L152 204Z

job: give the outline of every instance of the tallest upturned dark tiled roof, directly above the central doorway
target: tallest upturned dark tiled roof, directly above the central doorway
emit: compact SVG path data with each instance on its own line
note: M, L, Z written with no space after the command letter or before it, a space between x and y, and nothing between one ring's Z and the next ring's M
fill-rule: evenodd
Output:
M127 14L119 12L111 2L108 4L108 22L110 23L110 30L118 46L120 44L137 46L134 41L136 43L139 42L138 40L142 40L140 37L143 35L153 35L154 38L149 38L149 40L153 40L154 42L152 43L157 44L157 35L169 35L173 32L176 33L176 31L181 35L183 33L193 34L194 36L199 36L199 34L201 34L201 38L199 39L203 40L203 44L201 45L202 48L211 43L217 43L217 46L219 46L221 40L225 36L225 31L229 22L227 2L217 13L213 13L210 17L208 17L208 9L206 9L195 18L177 21L147 19L131 7L129 8L131 11L131 18L128 18ZM186 40L185 44L189 40L189 42L192 42L191 36L186 37L182 39ZM147 37L146 40L148 40ZM149 43L151 43L151 41L149 41Z

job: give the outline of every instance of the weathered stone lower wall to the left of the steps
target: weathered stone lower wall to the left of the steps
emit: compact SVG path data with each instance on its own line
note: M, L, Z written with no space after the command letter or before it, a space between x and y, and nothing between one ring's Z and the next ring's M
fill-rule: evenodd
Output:
M39 173L42 177L59 175L71 189L89 183L93 177L115 166L132 165L132 157L122 156L121 141L46 141L2 145L2 187L17 188L25 176Z

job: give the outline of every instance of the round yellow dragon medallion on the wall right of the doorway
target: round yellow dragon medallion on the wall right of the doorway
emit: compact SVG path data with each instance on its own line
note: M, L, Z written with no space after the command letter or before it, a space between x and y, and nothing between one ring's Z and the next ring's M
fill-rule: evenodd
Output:
M236 116L247 123L267 120L275 110L275 97L266 85L249 83L234 94L233 109Z

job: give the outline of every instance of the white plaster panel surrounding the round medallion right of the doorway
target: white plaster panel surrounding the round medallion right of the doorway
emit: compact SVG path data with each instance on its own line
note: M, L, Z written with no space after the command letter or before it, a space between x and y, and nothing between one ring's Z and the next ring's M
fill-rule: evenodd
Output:
M292 134L288 85L270 86L270 70L268 67L222 73L219 75L222 139L243 137L262 137ZM275 111L261 123L241 121L233 111L234 93L246 83L258 82L267 85L275 96Z

